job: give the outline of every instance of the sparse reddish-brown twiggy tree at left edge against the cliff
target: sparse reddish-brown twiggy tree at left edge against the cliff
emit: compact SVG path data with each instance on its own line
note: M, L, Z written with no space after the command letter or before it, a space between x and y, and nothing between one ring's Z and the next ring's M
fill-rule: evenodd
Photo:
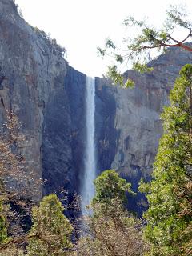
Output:
M21 133L21 126L18 117L6 110L6 124L0 132L0 194L7 201L17 203L22 198L35 197L39 192L37 186L42 182L35 180L34 174L27 170L21 150L26 138Z

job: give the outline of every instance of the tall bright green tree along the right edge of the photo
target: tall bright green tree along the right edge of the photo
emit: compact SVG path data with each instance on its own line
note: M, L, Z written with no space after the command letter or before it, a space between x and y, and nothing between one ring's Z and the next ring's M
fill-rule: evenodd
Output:
M154 179L141 186L149 202L145 236L151 244L150 255L191 255L192 65L180 71L162 119L164 134L154 162Z

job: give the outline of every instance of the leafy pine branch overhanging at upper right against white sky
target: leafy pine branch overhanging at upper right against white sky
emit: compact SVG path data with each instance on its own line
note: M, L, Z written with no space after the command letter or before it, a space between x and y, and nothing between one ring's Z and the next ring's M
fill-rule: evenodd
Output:
M122 87L133 86L134 82L130 78L125 82L119 66L128 66L131 63L134 70L144 73L153 70L147 65L151 50L155 51L156 55L165 52L167 47L180 47L192 52L192 47L186 44L192 37L192 23L187 20L187 16L184 7L170 6L170 10L166 11L166 21L160 29L149 25L146 21L138 21L133 17L126 18L123 25L138 30L135 38L130 38L129 35L123 40L126 50L120 50L110 38L106 39L103 48L98 47L98 53L102 57L114 58L115 64L108 66L107 76L114 84L119 83ZM185 36L182 39L174 36L178 29L184 30Z

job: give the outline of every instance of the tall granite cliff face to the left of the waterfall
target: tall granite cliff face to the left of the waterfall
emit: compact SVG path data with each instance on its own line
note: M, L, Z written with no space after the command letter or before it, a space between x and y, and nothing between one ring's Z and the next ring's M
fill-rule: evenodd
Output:
M54 40L19 17L12 0L0 0L0 70L0 122L7 109L22 123L27 142L18 150L29 181L32 172L46 178L44 193L78 190L86 77L67 65ZM41 198L42 186L33 190Z

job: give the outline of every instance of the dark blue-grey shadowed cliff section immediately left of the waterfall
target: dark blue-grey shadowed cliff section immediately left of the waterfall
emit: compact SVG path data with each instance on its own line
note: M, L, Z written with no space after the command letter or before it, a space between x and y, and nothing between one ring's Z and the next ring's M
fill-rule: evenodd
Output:
M42 132L45 193L79 192L85 138L86 76L68 67L61 88L50 95Z

